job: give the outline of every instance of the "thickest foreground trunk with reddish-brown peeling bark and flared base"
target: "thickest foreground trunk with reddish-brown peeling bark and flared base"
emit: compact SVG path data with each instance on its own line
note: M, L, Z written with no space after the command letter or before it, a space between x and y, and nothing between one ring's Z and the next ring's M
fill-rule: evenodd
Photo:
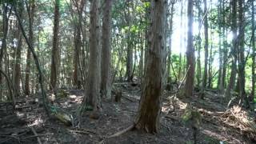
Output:
M151 0L151 27L149 51L146 63L142 97L139 104L135 127L149 133L158 132L160 126L161 95L165 78L165 17L166 0Z

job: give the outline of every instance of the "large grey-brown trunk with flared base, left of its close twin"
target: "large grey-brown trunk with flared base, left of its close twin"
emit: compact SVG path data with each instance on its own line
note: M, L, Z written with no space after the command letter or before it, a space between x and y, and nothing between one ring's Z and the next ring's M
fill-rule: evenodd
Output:
M101 108L100 82L101 82L101 48L99 46L99 0L90 3L90 56L89 71L86 81L85 97L83 98L80 113L86 106L94 110Z

